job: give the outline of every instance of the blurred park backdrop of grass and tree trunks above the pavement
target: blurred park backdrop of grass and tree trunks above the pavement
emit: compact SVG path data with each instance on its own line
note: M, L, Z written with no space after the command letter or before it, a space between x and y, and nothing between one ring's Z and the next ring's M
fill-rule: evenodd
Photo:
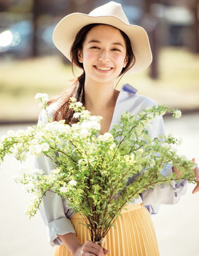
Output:
M35 122L40 112L35 94L53 96L70 84L70 63L53 46L53 30L65 15L88 14L107 2L0 0L0 123ZM154 57L149 68L122 79L118 89L128 82L159 104L197 111L198 0L118 2L130 23L148 32Z

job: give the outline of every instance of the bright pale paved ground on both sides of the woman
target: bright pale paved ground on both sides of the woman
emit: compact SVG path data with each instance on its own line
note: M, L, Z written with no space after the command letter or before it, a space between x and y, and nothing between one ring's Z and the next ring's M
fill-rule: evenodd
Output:
M1 126L0 136L7 130L26 129L23 126ZM183 138L179 154L196 158L199 163L199 114L185 115L180 119L165 118L167 132ZM28 166L32 159L28 158ZM6 158L0 172L0 255L4 256L51 256L44 224L38 214L28 219L24 210L30 195L11 178L20 163L12 156ZM197 256L199 251L199 194L192 195L193 187L177 205L162 205L159 214L153 216L160 256ZM117 256L117 255L115 255ZM151 255L152 256L152 255Z

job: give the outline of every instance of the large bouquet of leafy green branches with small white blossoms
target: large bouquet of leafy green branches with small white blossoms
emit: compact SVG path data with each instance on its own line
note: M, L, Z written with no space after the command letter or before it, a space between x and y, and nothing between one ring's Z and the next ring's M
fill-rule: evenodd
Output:
M8 131L0 144L1 162L6 154L14 154L23 162L30 152L35 157L43 154L55 163L51 174L21 167L15 177L34 196L26 209L30 217L39 209L45 193L51 191L66 197L69 206L82 213L92 241L102 241L121 210L144 190L172 180L196 183L194 163L173 150L173 144L180 141L170 134L155 139L148 135L156 115L168 111L179 118L180 110L153 106L137 117L126 112L120 124L100 135L102 117L91 115L75 98L71 98L70 108L77 122L72 126L48 117L47 94L37 94L36 98L46 110L47 125L38 123L26 131ZM182 172L179 179L174 173L161 175L171 162ZM127 186L129 177L136 178Z

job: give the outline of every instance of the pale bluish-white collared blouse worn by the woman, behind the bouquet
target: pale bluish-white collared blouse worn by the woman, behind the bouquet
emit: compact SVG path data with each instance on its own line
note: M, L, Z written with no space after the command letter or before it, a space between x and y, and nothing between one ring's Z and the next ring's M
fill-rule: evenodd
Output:
M140 96L136 94L137 90L129 84L124 84L115 105L113 118L111 121L110 129L114 123L120 122L121 114L130 112L133 115L137 115L142 112L143 109L147 109L150 106L157 105L155 101L150 98ZM53 112L56 109L56 105L50 105L48 115L53 117ZM43 111L39 115L39 121L46 124L45 112ZM148 130L148 134L151 138L159 137L165 133L163 118L156 116L151 123L152 129ZM55 164L44 155L40 155L35 159L35 168L42 169L45 174L50 174L51 170L56 168ZM169 175L172 172L172 166L164 166L161 174ZM128 179L127 185L130 184L133 179ZM129 204L146 205L150 213L157 213L160 204L176 204L179 202L180 197L186 193L188 182L176 184L172 181L171 184L165 183L156 185L154 188L149 188L143 193L140 193L138 199L132 199ZM62 199L60 196L47 192L43 197L42 204L40 205L40 213L46 226L48 241L50 245L62 245L63 243L59 239L59 235L67 233L75 233L73 225L70 221L74 211L68 206L67 199Z

